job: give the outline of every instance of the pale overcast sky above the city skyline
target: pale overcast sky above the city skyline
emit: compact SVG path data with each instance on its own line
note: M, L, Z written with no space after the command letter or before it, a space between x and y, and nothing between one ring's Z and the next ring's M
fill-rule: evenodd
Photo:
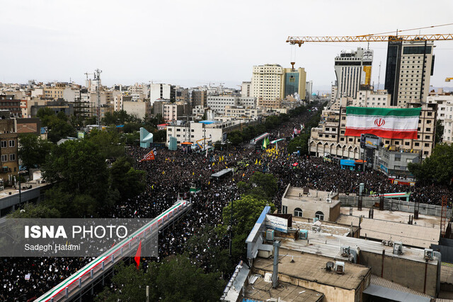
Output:
M304 67L314 90L335 81L334 58L360 43L306 43L288 35L362 35L452 23L452 0L65 1L2 0L0 81L199 86L250 81L253 65ZM418 33L415 32L408 33ZM421 30L453 33L453 26ZM453 76L453 41L435 42L432 86ZM386 42L373 42L372 81L384 83Z

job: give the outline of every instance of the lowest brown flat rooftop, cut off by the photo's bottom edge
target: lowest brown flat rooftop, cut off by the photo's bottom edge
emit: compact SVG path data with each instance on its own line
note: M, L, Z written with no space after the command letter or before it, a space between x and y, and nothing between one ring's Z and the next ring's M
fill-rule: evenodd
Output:
M253 276L253 275L252 275ZM302 286L297 286L287 282L278 282L276 289L273 289L272 282L264 280L263 276L259 276L253 284L246 286L244 298L267 301L269 298L280 298L282 301L301 301L301 302L318 302L323 301L323 294L318 291L306 289ZM249 278L251 279L251 278Z

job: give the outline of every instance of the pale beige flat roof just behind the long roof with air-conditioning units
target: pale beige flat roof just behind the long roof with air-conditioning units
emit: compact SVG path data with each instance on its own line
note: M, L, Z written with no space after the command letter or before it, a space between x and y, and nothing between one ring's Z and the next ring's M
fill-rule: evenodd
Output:
M376 212L374 211L374 213ZM360 217L358 216L341 214L336 222L346 226L350 226L351 223L352 226L358 226L359 220ZM403 245L430 248L431 244L439 244L440 228L364 217L362 223L360 223L360 237L374 240L392 240L394 242L401 241Z

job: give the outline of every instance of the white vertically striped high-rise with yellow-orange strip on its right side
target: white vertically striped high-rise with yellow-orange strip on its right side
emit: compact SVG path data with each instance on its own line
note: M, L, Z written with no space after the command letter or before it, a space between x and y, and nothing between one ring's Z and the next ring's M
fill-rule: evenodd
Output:
M371 66L373 51L357 48L357 51L344 50L335 58L335 74L337 77L336 98L357 97L361 85L371 83Z

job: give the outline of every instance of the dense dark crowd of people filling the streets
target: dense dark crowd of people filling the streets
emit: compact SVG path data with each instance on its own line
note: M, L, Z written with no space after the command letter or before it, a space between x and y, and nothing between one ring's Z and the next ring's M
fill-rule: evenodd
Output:
M294 128L309 122L315 112L305 112L292 117L289 122L270 132L270 139L291 137ZM342 170L339 165L325 163L322 158L297 156L287 152L287 140L279 141L273 152L261 151L254 146L224 146L222 150L209 153L183 153L158 149L154 161L140 159L149 152L138 146L128 146L127 153L136 162L135 168L146 171L146 189L134 199L128 199L115 207L108 217L154 218L173 205L178 196L193 202L190 214L185 215L172 228L159 236L159 257L183 252L185 243L193 234L207 226L221 222L222 209L231 200L239 199L236 183L247 181L256 171L271 173L277 178L279 190L273 202L280 209L281 197L290 183L296 187L311 187L323 191L356 193L360 182L365 183L367 192L402 192L411 190L411 199L428 204L440 204L443 194L449 196L449 187L407 187L393 185L385 175L376 171L358 172ZM273 148L273 146L270 146ZM276 150L277 149L277 150ZM296 165L297 163L297 165ZM210 176L224 168L233 168L232 176L212 180ZM190 185L196 184L200 191L190 194ZM213 233L208 246L195 246L191 252L197 265L210 268L210 248L224 246L227 241ZM4 258L0 261L2 284L1 301L14 301L21 296L40 296L62 279L69 277L92 258ZM25 275L30 279L25 280Z

